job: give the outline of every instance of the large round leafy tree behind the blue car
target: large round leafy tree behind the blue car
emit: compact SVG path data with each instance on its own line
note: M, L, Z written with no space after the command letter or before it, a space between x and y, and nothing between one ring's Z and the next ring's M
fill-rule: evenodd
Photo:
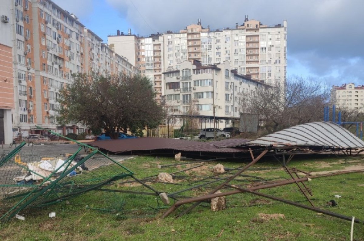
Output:
M153 86L146 77L97 73L73 77L61 91L60 123L104 129L111 139L118 139L120 131L154 128L163 119L162 107L155 101Z

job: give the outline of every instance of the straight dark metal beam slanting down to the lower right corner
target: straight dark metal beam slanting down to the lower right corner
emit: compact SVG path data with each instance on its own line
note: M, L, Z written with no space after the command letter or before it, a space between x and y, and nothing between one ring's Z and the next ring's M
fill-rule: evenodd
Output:
M308 210L311 210L311 211L314 211L314 212L323 213L323 214L326 214L328 216L341 218L343 220L352 221L352 218L353 218L353 217L341 215L339 213L334 213L334 212L326 211L326 210L323 210L323 209L310 207L308 205L304 205L304 204L301 204L301 203L295 203L293 201L282 199L280 197L275 197L275 196L268 195L268 194L265 194L265 193L255 192L255 191L249 190L247 188L240 188L240 187L234 187L234 188L236 188L237 191L252 193L254 195L258 195L258 196L265 197L265 198L268 198L268 199L272 199L272 200L275 200L275 201L280 201L282 203L290 204L290 205L293 205L293 206L296 206L296 207L299 207L299 208L304 208L304 209L308 209ZM354 222L362 223L362 221L360 221L357 218L355 218Z

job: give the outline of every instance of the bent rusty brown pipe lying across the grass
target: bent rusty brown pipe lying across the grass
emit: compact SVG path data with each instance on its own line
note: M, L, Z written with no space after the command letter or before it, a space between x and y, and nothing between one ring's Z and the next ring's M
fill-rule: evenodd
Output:
M293 180L285 180L285 181L278 181L276 183L270 183L270 184L266 184L266 185L259 185L256 187L251 187L249 188L249 190L260 190L260 189L265 189L265 188L272 188L272 187L279 187L279 186L283 186L283 185L288 185L288 184L292 184L292 183L296 183L297 182L302 182L302 181L308 181L308 177L302 177L299 179L293 179ZM227 185L224 184L227 187L234 187L235 186L231 186L231 185ZM167 216L169 216L175 209L177 209L179 206L183 205L183 204L187 204L187 203L194 203L194 202L201 202L207 199L212 199L215 197L222 197L222 196L229 196L229 195L233 195L236 193L242 193L244 191L240 191L240 190L233 190L233 191L228 191L228 192L222 192L222 193L210 193L204 196L199 196L199 197L192 197L189 199L183 199L183 200L179 200L177 202L175 202L165 213L163 213L162 218L165 218Z

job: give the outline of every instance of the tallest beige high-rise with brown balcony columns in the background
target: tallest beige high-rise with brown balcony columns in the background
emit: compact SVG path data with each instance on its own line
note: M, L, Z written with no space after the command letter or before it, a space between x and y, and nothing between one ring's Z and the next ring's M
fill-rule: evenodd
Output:
M182 62L202 65L229 61L231 69L269 85L286 81L287 21L264 25L245 16L244 23L223 29L203 28L201 20L186 29L150 36L123 33L108 36L108 44L154 82L157 99L165 95L162 72L180 70Z

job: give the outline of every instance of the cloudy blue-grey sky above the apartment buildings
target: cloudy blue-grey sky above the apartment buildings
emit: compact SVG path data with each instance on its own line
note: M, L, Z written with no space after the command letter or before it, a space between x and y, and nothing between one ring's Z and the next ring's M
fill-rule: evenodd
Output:
M107 42L107 35L211 29L249 19L287 20L287 76L327 85L364 84L364 0L53 0Z

